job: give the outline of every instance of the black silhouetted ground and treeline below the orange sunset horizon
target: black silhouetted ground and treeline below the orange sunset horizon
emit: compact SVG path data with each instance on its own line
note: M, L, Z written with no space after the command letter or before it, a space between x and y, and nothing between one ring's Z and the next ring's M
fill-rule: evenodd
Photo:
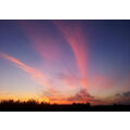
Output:
M0 112L130 112L130 105L102 105L91 106L86 104L57 105L49 103L37 103L35 101L14 102L2 101Z

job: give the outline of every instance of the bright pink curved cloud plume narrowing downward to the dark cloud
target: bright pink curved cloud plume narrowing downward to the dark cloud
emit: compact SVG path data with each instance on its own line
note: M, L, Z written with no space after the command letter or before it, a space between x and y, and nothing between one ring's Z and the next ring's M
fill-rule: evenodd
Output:
M81 28L78 24L67 24L61 21L54 21L54 24L62 31L63 37L69 43L77 62L79 73L81 75L81 84L84 89L88 88L87 83L87 60L88 53L86 50L86 40L83 38Z

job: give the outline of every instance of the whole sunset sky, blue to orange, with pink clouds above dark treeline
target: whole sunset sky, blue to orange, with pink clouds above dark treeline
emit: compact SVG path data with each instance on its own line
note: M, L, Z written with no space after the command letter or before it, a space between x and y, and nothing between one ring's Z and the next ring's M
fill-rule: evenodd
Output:
M130 21L0 21L0 100L130 104Z

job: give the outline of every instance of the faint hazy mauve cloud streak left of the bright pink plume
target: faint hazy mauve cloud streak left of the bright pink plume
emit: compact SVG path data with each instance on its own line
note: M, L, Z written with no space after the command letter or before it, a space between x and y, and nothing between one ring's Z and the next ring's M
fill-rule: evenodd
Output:
M42 28L44 32L35 22L23 21L20 25L26 37L30 40L31 47L42 60L46 60L46 62L55 62L61 56L61 48L55 38L47 30L46 24L44 28Z

